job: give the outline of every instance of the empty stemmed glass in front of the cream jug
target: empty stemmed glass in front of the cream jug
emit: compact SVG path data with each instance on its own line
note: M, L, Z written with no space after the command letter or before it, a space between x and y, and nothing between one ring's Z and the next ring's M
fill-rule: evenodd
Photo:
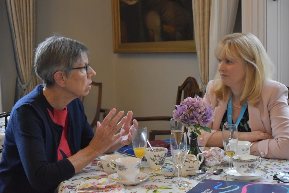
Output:
M178 168L178 180L172 184L187 185L188 182L181 180L181 168L184 166L187 153L187 135L184 131L171 132L171 154L175 166Z

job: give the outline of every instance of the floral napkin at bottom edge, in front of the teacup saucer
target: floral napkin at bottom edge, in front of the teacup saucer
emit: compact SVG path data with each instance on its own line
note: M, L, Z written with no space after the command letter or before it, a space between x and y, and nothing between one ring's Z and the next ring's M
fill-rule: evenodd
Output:
M121 183L112 182L108 178L89 179L80 181L76 193L83 192L119 192L125 193L125 186Z

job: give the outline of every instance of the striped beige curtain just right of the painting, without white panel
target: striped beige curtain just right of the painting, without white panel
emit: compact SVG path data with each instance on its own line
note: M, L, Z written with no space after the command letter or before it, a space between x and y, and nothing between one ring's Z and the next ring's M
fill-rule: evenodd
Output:
M194 34L199 60L201 90L209 82L209 34L212 0L192 0Z

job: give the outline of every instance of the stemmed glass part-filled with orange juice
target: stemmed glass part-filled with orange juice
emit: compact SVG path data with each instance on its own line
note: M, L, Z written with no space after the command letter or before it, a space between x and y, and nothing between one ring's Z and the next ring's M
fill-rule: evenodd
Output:
M140 171L142 171L142 158L147 149L147 128L134 127L132 128L132 147L134 154L140 159Z

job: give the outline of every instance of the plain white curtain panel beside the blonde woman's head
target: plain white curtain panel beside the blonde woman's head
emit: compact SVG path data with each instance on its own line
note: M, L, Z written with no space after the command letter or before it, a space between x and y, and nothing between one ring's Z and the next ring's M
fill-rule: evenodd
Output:
M239 0L213 0L210 18L209 79L214 79L218 70L215 48L227 35L233 32Z

